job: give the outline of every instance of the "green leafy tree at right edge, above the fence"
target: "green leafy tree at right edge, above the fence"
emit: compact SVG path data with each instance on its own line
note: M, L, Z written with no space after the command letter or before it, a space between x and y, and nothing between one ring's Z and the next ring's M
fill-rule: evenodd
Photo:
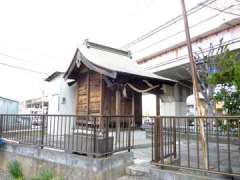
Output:
M223 102L228 115L240 114L240 52L230 51L217 56L217 71L209 76L209 83L216 86L213 99Z

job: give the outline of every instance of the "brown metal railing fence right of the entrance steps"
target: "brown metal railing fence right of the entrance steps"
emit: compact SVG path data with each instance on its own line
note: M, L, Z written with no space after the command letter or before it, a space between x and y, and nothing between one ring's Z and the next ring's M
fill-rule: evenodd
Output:
M240 176L240 117L161 116L151 120L154 164ZM201 129L205 134L205 148L201 143Z

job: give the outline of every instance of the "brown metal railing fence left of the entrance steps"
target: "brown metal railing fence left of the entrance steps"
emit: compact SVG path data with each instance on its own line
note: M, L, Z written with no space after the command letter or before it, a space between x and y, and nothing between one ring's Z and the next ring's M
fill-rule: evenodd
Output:
M134 145L133 116L0 115L0 136L20 144L102 156Z

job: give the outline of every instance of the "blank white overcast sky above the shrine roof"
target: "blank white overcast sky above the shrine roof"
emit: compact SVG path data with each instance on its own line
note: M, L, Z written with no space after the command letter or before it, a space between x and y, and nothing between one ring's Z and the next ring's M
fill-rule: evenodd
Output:
M41 97L43 79L65 71L84 39L121 48L179 14L180 0L0 0L0 96Z

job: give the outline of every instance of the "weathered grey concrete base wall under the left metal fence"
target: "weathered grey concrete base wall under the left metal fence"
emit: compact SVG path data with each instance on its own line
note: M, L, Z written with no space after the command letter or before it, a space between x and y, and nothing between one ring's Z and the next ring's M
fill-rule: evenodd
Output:
M125 168L133 162L133 153L91 158L19 144L1 147L0 169L7 170L13 160L22 164L24 174L29 178L37 175L41 169L51 169L64 179L114 180L125 174Z

